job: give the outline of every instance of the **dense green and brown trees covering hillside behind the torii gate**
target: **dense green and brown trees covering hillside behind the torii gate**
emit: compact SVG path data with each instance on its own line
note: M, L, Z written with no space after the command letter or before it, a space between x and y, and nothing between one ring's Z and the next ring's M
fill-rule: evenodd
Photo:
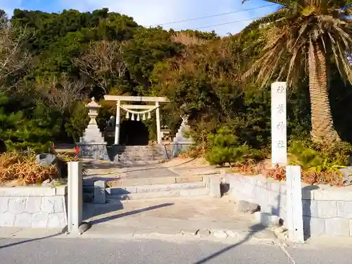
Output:
M84 102L92 96L101 99L98 123L103 129L115 112L113 103L102 100L104 94L168 96L163 125L173 132L180 113L188 113L192 137L203 151L214 149L225 132L229 140L220 142L221 147L230 144L243 152L270 144L270 89L242 80L266 44L258 42L263 36L260 21L222 38L215 32L141 27L133 18L107 9L15 10L10 25L14 30L8 47L19 47L12 65L20 67L1 79L0 139L8 146L40 149L51 141L78 140L87 125ZM331 70L331 82L338 86L330 96L332 115L342 139L348 139L352 120L338 106L352 94L346 92L350 87L341 82L338 69ZM307 87L302 75L289 91L288 131L293 139L310 131ZM155 139L155 122L145 123ZM216 132L219 137L212 135ZM220 148L214 153L216 160Z

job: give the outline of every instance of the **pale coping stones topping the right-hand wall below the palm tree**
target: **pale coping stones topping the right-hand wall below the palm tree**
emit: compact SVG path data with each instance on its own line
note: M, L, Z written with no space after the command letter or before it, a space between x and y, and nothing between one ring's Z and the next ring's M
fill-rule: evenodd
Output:
M243 182L278 194L287 194L286 182L277 182L263 175L246 176L239 173L224 173L223 180L231 184L232 181ZM352 187L333 187L326 184L308 185L302 183L302 199L318 201L352 201Z

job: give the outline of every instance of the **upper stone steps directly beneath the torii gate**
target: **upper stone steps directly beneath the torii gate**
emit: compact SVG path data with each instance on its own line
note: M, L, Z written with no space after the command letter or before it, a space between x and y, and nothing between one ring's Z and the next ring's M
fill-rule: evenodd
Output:
M168 160L163 144L151 146L111 146L113 162L128 165L158 163Z

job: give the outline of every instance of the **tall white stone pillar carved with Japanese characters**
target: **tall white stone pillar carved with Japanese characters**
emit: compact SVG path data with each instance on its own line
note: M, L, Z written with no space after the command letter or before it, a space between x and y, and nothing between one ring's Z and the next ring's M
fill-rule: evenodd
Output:
M271 84L271 162L287 165L286 82Z

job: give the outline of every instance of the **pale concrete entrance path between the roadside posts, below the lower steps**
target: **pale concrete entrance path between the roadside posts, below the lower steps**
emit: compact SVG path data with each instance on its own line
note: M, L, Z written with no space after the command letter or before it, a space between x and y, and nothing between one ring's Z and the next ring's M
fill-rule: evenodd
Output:
M257 239L275 239L272 231L253 222L252 215L237 213L227 199L172 198L85 204L84 219L92 228L83 237L172 237L202 234L207 239L232 239L249 234Z

